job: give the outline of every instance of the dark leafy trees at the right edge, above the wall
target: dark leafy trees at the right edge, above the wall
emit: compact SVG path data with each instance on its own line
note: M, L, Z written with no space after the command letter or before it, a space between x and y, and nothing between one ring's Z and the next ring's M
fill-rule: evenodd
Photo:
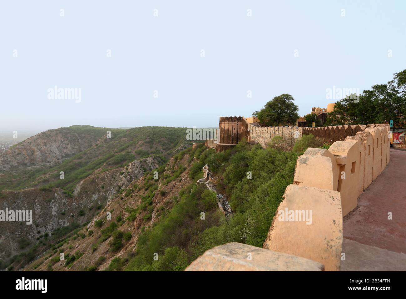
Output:
M406 123L406 70L393 74L387 84L377 84L359 95L359 102L347 97L335 103L324 125Z

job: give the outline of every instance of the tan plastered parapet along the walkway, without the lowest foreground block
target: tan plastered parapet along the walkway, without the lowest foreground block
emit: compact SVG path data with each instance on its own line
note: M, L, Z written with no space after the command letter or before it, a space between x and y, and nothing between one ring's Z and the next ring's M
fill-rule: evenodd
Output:
M389 163L389 124L337 126L331 130L333 140L348 128L351 135L328 150L308 148L298 157L294 184L285 190L263 248L320 262L326 271L339 270L342 217L356 208L358 196ZM313 220L309 225L279 221L284 209L312 211Z

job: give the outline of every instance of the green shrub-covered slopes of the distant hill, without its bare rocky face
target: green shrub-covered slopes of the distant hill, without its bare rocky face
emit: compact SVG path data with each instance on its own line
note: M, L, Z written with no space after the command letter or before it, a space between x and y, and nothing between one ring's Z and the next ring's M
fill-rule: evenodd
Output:
M22 190L43 186L43 188L59 187L65 192L71 193L80 180L88 177L96 170L97 172L104 172L123 167L136 159L149 155L160 155L163 158L168 158L193 143L186 140L186 128L137 127L124 130L72 126L56 130L69 133L69 135L72 135L73 132L99 139L89 148L63 159L63 162L56 166L46 165L38 166L32 170L17 170L14 173L4 172L4 175L0 177L0 190ZM49 131L40 133L42 138L45 138L47 136L45 133ZM102 137L106 135L106 131L111 131L110 139L106 136ZM31 138L22 144L17 144L14 150L24 146ZM47 141L52 143L52 140L45 142ZM78 140L71 138L69 146L77 142ZM47 146L49 148L50 144ZM60 179L61 171L64 172L64 179Z

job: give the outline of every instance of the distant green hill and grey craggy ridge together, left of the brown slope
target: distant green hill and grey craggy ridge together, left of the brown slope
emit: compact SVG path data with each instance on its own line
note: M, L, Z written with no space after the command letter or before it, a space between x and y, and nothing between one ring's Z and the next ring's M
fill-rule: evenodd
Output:
M111 139L106 128L50 130L0 155L0 206L32 210L34 218L32 225L1 223L2 268L17 270L34 260L53 242L87 224L134 180L191 145L184 128L108 130Z

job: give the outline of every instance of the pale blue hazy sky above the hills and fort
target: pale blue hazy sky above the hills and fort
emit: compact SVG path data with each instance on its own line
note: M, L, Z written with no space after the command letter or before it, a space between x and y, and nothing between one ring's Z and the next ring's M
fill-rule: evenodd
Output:
M406 68L405 11L405 1L2 1L0 131L216 127L283 93L303 116L336 101L328 88L362 92Z

